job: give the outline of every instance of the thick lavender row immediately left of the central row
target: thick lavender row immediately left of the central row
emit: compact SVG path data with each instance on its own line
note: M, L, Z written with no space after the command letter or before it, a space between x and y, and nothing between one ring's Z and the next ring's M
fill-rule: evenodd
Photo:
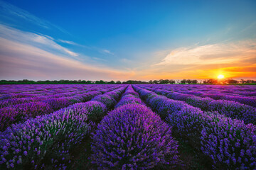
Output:
M125 86L109 94L122 94L124 89ZM73 160L73 151L95 126L92 121L110 109L96 97L92 100L11 125L0 132L0 168L65 169Z

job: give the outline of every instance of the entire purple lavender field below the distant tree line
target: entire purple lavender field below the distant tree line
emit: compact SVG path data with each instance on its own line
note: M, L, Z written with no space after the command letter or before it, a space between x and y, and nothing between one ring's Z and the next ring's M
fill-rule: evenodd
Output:
M256 86L0 86L0 169L256 169Z

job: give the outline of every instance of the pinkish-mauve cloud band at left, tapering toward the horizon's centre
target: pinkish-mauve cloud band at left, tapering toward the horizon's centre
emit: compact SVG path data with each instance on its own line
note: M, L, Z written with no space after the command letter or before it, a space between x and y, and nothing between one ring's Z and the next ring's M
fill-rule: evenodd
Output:
M1 79L129 79L133 72L95 67L42 50L33 45L0 38Z

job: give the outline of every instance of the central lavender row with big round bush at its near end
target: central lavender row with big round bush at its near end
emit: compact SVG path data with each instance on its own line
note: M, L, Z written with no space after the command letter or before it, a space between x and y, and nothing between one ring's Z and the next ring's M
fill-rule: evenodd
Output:
M171 169L178 164L171 127L142 104L132 86L102 119L92 140L90 159L97 169Z

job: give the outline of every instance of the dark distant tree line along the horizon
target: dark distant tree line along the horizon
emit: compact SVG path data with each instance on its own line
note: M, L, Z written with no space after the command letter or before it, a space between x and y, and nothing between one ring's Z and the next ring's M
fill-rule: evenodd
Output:
M198 81L196 79L159 79L150 81L138 81L138 80L128 80L128 81L90 81L90 80L39 80L33 81L28 79L23 80L0 80L0 84L256 84L255 80L252 79L241 79L240 81L235 79L207 79Z

